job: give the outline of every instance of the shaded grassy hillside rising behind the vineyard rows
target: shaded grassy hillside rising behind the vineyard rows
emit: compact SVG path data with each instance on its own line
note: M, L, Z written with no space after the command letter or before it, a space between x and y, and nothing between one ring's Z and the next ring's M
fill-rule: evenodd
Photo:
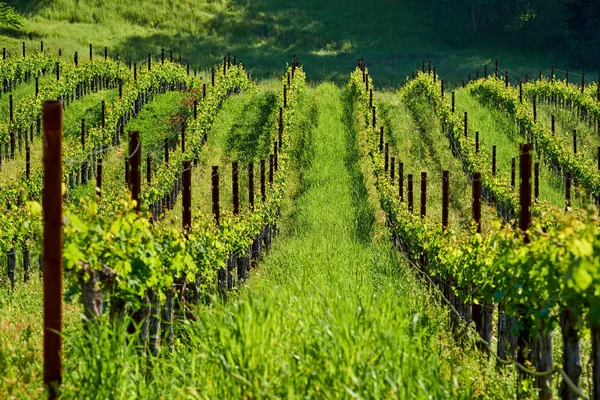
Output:
M22 33L0 32L3 46L14 52L23 40L31 49L44 40L46 49L62 48L70 58L75 51L87 56L93 43L97 54L108 46L111 54L141 60L164 47L194 67L206 68L231 51L257 77L277 74L280 62L296 53L310 79L337 83L364 57L384 86L397 86L421 60L432 60L449 82L466 79L468 72L492 65L495 58L511 77L534 76L553 64L568 67L549 55L490 47L476 35L449 44L452 32L436 30L429 6L408 0L8 3L28 15Z

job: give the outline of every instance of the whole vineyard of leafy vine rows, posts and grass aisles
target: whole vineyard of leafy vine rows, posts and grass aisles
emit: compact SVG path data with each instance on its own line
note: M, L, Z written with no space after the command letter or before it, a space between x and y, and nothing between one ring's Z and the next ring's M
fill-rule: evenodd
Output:
M0 61L1 398L600 398L600 82L85 50Z

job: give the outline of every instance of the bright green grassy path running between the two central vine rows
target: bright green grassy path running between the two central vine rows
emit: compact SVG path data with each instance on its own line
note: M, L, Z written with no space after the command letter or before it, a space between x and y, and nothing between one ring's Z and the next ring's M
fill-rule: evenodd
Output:
M210 398L471 398L483 384L485 370L465 364L481 358L447 337L444 313L387 238L374 240L383 227L341 100L331 84L312 94L310 164L284 212L295 230L239 298L200 313L177 386Z

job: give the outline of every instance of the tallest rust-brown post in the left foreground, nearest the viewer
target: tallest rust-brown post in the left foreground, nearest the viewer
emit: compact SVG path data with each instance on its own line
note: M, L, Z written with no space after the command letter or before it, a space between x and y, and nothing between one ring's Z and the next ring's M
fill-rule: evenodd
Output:
M61 101L46 101L44 126L44 385L57 397L62 381L62 112Z

